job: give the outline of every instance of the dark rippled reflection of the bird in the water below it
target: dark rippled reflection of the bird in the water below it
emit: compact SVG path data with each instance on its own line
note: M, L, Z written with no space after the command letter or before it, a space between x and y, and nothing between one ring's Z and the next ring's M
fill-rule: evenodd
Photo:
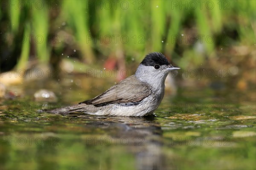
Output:
M92 117L84 114L70 114L69 116L89 119L91 121L86 122L87 128L101 128L114 139L126 139L125 142L128 140L127 152L134 154L137 169L165 168L165 159L162 153L163 131L154 115L144 117Z

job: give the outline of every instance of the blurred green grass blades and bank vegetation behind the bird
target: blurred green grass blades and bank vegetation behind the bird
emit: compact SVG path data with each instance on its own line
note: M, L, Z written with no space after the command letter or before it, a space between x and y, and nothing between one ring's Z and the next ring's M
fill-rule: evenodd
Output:
M255 0L1 0L0 20L2 73L136 69L159 51L181 73L213 69L238 90L255 88Z

